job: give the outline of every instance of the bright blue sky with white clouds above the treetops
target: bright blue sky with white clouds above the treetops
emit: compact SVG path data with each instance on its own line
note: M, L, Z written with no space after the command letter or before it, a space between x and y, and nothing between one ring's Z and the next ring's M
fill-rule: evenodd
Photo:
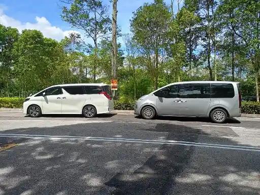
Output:
M18 3L19 2L19 3ZM118 0L118 25L121 26L122 33L129 32L129 19L133 12L144 3L152 3L153 0ZM170 4L171 0L165 0ZM109 0L103 0L104 4L111 5ZM43 32L46 37L61 40L72 30L70 25L60 18L61 9L58 0L0 0L0 23L5 26L18 28L19 31L29 28ZM175 8L177 8L175 0ZM111 12L112 13L112 12ZM91 40L87 39L91 43ZM121 38L118 40L122 42Z

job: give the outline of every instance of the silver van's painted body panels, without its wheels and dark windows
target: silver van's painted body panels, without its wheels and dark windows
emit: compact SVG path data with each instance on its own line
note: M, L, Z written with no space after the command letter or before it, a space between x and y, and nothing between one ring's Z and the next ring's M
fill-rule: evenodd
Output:
M205 84L205 85L222 85L232 84L235 95L232 98L164 98L154 95L155 92L166 87L184 86L185 84ZM145 106L152 106L157 115L176 115L176 116L209 116L210 112L216 108L222 108L228 112L229 117L241 115L241 106L239 103L239 87L237 82L213 82L213 81L196 81L196 82L179 82L169 84L152 93L142 96L136 101L135 114L141 115ZM211 89L211 87L210 87ZM211 92L210 92L211 93Z

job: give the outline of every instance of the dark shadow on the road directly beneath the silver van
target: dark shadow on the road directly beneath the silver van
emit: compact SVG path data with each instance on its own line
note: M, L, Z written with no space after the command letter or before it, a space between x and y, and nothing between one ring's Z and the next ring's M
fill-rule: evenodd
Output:
M135 116L136 119L142 119L142 116ZM154 120L157 121L180 121L180 122L204 122L213 123L210 118L207 117L193 117L193 116L156 116ZM237 119L230 118L224 122L224 124L240 124ZM213 123L214 124L214 123Z

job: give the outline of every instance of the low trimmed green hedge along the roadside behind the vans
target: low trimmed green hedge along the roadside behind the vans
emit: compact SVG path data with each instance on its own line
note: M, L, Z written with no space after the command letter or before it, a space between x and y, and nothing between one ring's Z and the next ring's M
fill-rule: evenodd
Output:
M21 108L24 98L0 98L0 108ZM114 101L115 110L133 110L135 102ZM259 102L242 102L242 113L260 114Z

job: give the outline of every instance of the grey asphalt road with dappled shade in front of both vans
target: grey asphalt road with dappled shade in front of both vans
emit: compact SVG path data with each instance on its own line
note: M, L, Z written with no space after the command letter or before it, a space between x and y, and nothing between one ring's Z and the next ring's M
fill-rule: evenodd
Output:
M260 119L0 112L0 195L260 194Z

